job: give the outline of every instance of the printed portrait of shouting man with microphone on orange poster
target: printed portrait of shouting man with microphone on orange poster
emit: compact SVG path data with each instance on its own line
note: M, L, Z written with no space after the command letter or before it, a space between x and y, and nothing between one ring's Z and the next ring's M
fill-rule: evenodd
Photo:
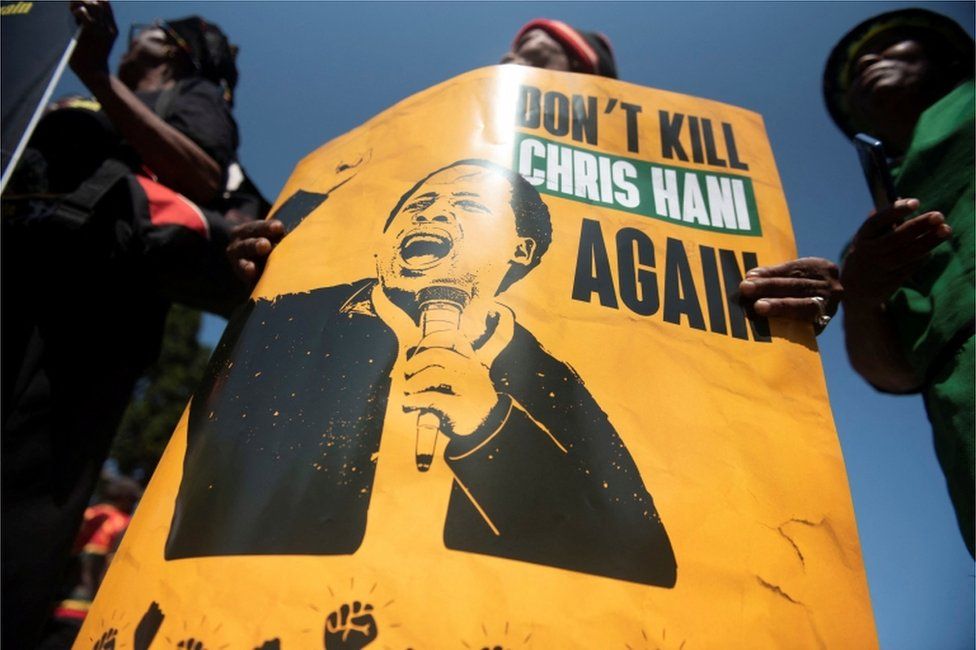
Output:
M498 301L551 239L529 183L461 160L393 208L375 278L252 300L191 404L167 559L356 553L395 399L448 439L434 459L452 478L447 549L672 587L671 543L620 436ZM461 296L463 318L424 336L431 287Z

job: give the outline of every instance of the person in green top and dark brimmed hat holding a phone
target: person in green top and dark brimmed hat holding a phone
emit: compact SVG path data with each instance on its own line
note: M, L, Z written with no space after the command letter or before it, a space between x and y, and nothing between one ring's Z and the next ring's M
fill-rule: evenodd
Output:
M963 539L973 553L973 39L923 9L846 34L824 97L851 137L881 140L898 200L867 218L842 265L854 369L878 390L921 393Z

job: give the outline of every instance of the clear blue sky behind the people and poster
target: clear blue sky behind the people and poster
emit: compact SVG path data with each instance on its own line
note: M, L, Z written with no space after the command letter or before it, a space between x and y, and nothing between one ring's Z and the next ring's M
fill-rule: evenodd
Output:
M972 2L140 2L115 9L123 40L131 22L196 13L240 45L240 157L271 199L319 145L415 92L497 62L527 20L602 31L621 79L762 114L800 254L836 259L870 199L853 149L823 106L824 60L856 23L909 6L973 31ZM123 49L116 45L113 68ZM79 89L68 74L59 93ZM972 648L974 564L922 401L868 387L847 362L839 325L819 341L882 648ZM208 318L201 338L214 344L222 327Z

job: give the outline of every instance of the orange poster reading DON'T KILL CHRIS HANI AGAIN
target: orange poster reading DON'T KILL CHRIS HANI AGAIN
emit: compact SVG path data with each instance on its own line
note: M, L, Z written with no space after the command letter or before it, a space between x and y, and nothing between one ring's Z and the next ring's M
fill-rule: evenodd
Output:
M274 217L76 647L877 645L812 326L736 299L758 115L485 68Z

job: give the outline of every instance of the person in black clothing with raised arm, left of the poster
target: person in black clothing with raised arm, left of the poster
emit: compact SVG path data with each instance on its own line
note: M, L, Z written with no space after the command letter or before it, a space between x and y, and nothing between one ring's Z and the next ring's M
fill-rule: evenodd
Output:
M161 272L223 260L226 236L198 206L219 202L237 148L233 57L214 65L201 47L212 26L190 18L136 30L112 75L111 7L71 10L81 26L71 66L94 100L49 111L3 197L2 635L11 648L34 646L116 427L158 354L171 298Z

